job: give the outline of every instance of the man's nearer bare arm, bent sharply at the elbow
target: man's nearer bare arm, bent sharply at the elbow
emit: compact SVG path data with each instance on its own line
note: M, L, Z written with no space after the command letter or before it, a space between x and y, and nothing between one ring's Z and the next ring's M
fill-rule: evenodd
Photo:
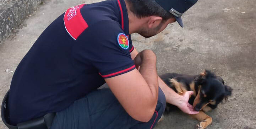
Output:
M158 100L156 55L153 51L144 50L137 54L135 60L135 64L140 65L140 71L134 69L106 78L105 81L132 118L148 122L153 116Z

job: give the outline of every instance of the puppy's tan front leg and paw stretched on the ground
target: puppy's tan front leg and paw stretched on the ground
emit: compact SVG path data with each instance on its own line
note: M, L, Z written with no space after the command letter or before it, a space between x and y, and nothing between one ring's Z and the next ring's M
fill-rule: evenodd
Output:
M212 118L202 111L199 111L198 114L193 114L191 116L200 121L200 123L196 125L197 129L205 129L209 124L212 123Z

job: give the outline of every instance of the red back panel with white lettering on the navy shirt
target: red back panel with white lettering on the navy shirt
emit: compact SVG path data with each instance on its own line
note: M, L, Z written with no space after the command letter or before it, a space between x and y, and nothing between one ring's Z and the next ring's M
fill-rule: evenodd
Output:
M85 19L83 19L80 12L80 9L84 5L85 4L71 7L64 15L64 25L67 33L75 40L88 27L88 24Z

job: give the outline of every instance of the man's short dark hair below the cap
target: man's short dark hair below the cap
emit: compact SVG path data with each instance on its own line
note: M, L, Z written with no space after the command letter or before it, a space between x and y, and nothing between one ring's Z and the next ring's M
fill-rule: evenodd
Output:
M138 18L148 16L160 16L163 21L174 17L171 13L163 9L155 0L125 0L129 3L130 10Z

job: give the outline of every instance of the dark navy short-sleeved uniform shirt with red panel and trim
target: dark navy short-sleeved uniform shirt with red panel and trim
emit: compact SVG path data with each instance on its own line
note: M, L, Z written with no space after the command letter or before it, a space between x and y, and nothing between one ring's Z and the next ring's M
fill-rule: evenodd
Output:
M77 5L53 21L18 65L9 96L12 124L64 110L135 69L124 0Z

